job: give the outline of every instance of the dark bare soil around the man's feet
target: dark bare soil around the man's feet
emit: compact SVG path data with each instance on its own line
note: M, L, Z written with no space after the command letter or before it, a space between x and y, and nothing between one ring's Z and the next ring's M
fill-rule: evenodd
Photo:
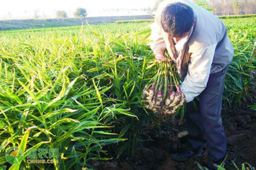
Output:
M227 136L227 170L235 170L232 161L241 169L242 163L256 167L256 112L247 107L241 110L222 110L222 120ZM169 155L182 152L186 147L186 136L177 134L186 130L186 125L177 119L169 119L160 130L145 128L138 144L135 162L96 161L96 170L199 170L198 164L207 167L207 150L203 155L187 161L174 161ZM143 135L144 134L144 135Z

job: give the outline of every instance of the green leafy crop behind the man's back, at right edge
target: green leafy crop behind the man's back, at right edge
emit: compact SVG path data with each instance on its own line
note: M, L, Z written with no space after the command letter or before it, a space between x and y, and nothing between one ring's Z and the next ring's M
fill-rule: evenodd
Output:
M224 20L234 46L234 57L228 68L224 86L224 107L240 106L247 102L246 97L254 97L249 91L256 85L253 76L256 58L250 57L255 41L255 20L254 17Z

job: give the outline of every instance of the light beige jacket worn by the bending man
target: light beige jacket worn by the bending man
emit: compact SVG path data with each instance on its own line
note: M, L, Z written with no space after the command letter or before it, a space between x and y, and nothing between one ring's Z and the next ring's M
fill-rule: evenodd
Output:
M160 23L161 13L170 3L181 2L194 11L195 26L189 33L184 48L175 53L173 40L169 40ZM181 91L190 102L206 88L209 74L225 68L233 58L233 46L227 37L227 29L218 17L190 0L165 0L157 8L154 23L151 25L150 47L154 54L168 51L176 62L183 80Z

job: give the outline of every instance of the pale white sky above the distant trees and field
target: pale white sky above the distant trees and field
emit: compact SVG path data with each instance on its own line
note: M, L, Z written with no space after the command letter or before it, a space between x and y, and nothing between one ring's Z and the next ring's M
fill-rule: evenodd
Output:
M125 9L148 8L154 6L156 0L1 0L0 19L33 18L34 12L39 11L40 18L53 18L58 10L64 10L69 17L73 17L76 8L87 9L88 17L136 15L142 11ZM122 9L110 12L104 9ZM145 14L145 11L144 11Z

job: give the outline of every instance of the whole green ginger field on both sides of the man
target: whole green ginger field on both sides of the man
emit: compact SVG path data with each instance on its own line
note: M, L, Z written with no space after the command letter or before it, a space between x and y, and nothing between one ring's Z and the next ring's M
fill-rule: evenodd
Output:
M256 17L223 22L235 48L224 87L223 116L232 117L239 111L241 120L246 121L243 113L250 116L244 123L249 127L239 126L231 118L227 124L229 118L224 119L224 127L229 130L232 126L237 132L250 130L247 134L252 136L237 137L236 141L247 140L247 148L236 142L228 146L236 148L233 153L229 150L228 166L233 166L231 161L239 168L244 162L256 166L256 58L250 58L256 40ZM0 169L11 167L5 153L12 146L24 152L23 161L12 170L93 169L95 162L112 161L148 165L150 161L141 161L138 156L143 154L138 151L140 145L153 138L151 133L160 134L166 127L142 105L142 90L158 68L147 45L148 31L143 31L149 24L1 31ZM169 126L176 128L175 121L182 122L182 118L180 111L175 119L166 117L165 122L173 122ZM246 152L239 157L240 147ZM59 156L54 158L58 163L27 163L27 149L31 148L58 148ZM162 145L160 148L165 149ZM158 161L165 162L166 156ZM107 169L104 166L101 168Z

